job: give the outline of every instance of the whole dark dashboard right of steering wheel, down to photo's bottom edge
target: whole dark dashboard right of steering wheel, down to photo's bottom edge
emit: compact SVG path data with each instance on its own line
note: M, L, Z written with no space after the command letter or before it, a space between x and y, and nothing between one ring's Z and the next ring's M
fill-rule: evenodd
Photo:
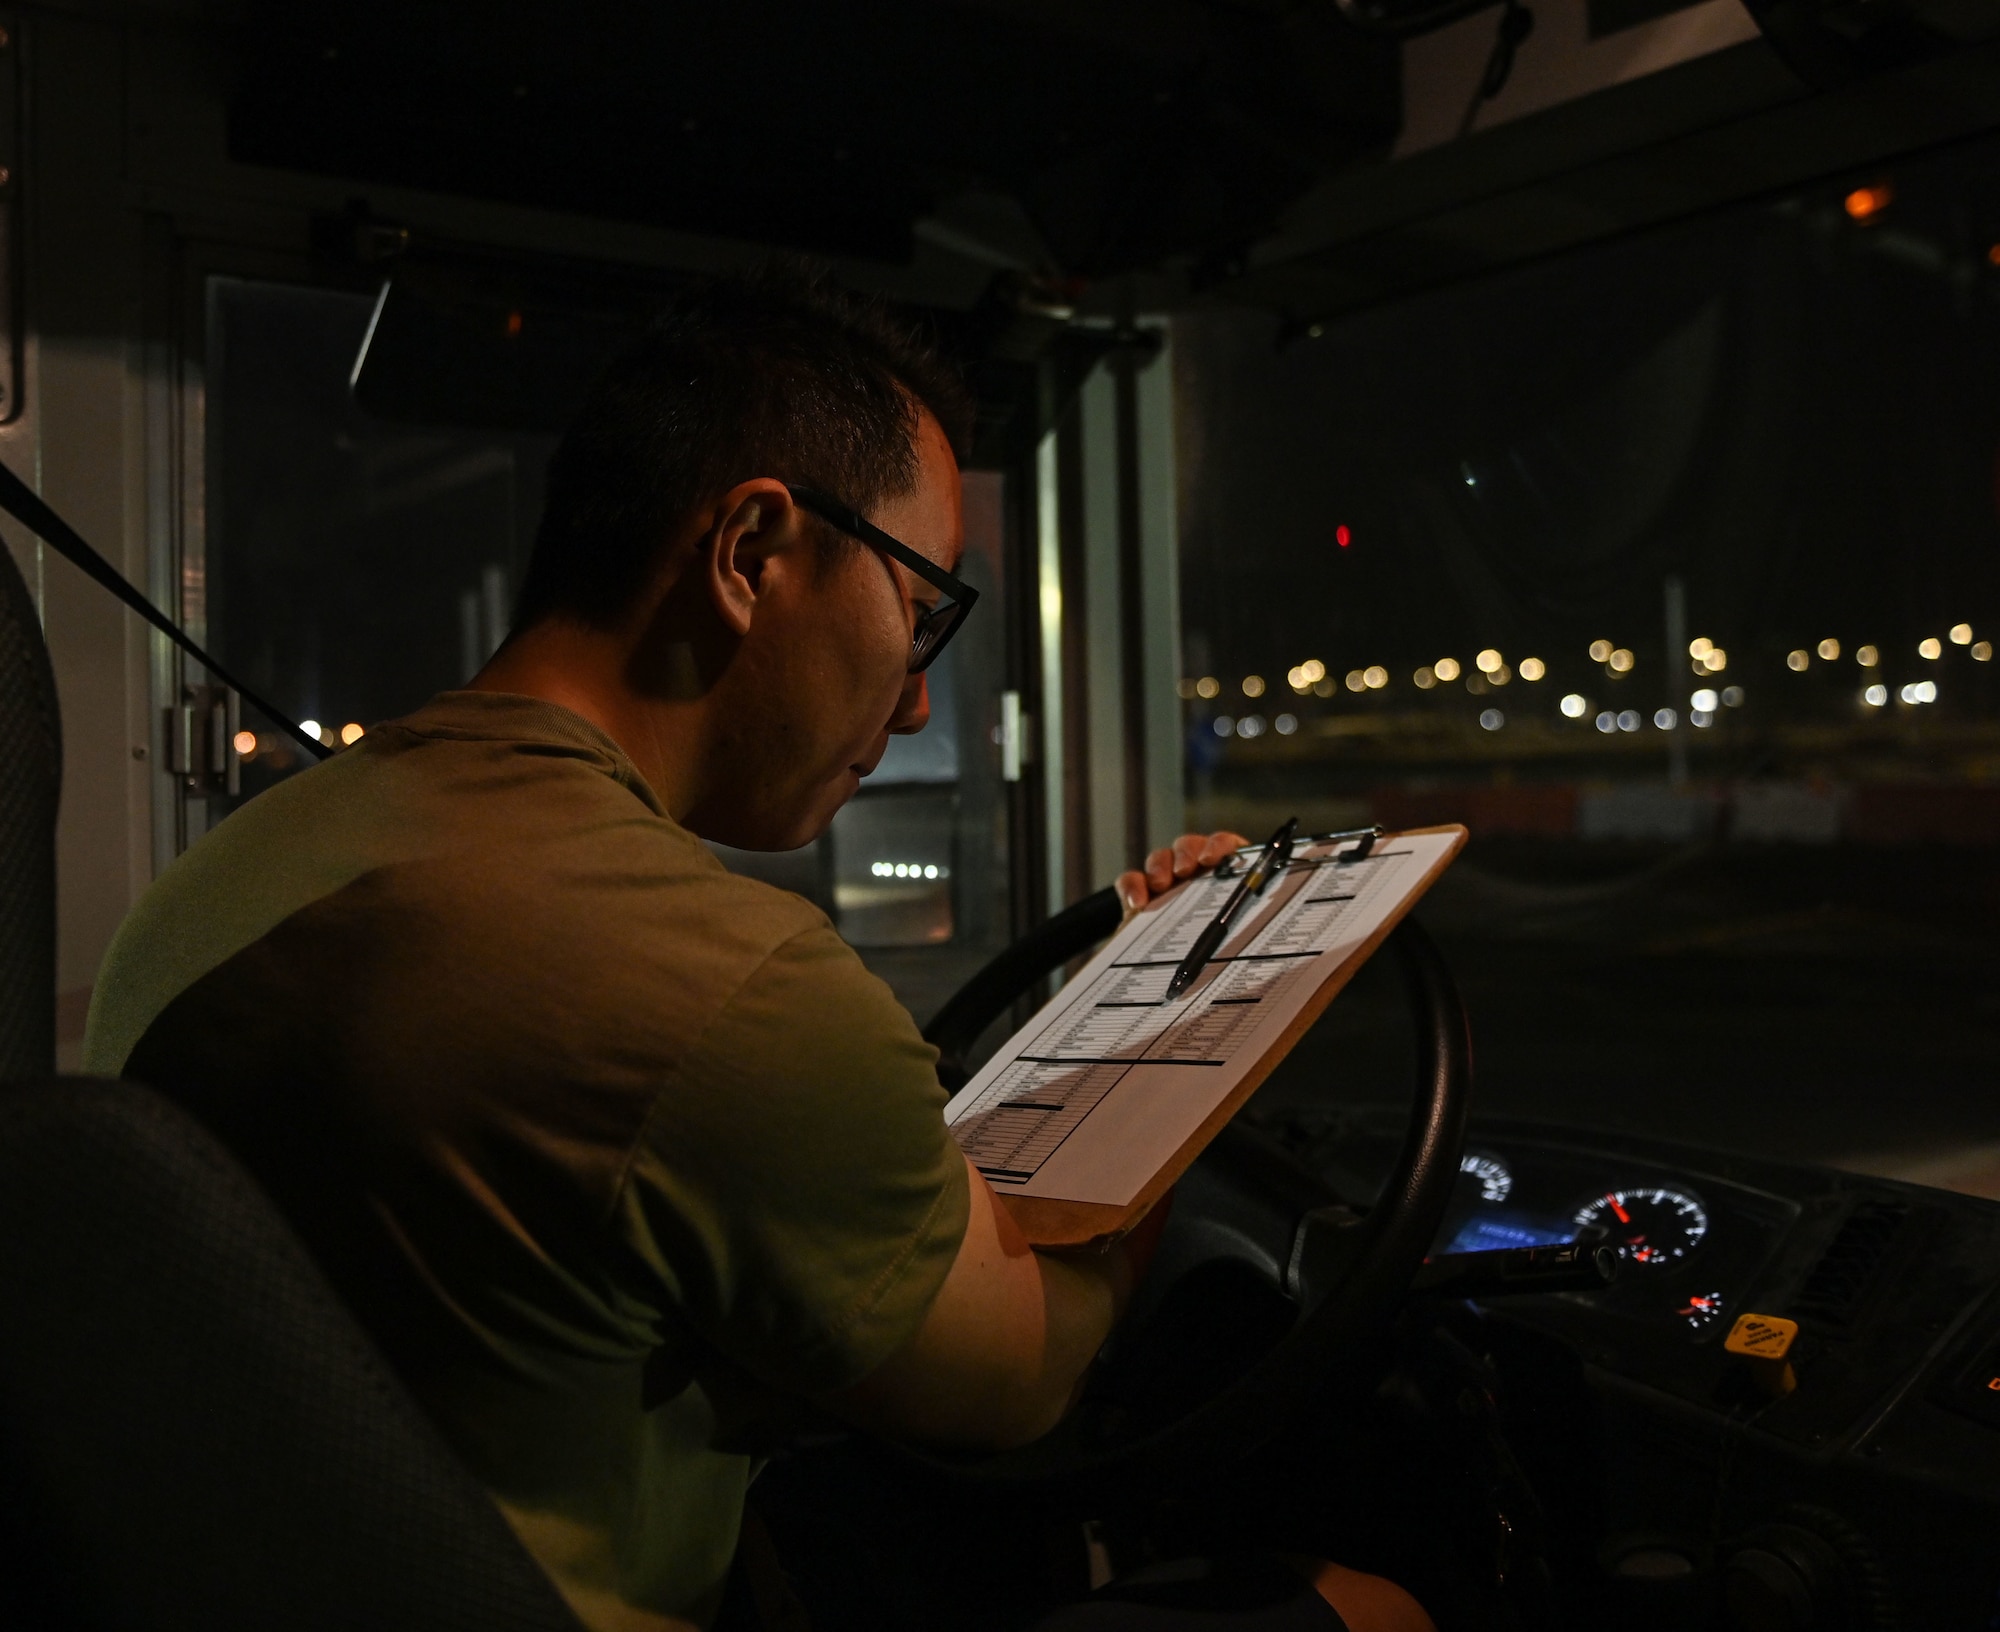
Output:
M1350 1112L1284 1142L1366 1200L1400 1134L1394 1114ZM1676 1620L1644 1608L1666 1602L1656 1574L1608 1610L2000 1624L2000 1204L1474 1118L1434 1254L1578 1238L1618 1254L1610 1286L1454 1306L1500 1394L1534 1402L1514 1442L1544 1502L1574 1496L1566 1522L1612 1586L1632 1562L1746 1604L1776 1594L1770 1616ZM1740 1316L1796 1324L1788 1370L1728 1352Z

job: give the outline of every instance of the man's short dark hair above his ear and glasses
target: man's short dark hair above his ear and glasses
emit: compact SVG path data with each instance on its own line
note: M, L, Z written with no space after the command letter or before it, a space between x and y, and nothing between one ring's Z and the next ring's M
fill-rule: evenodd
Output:
M776 476L862 514L910 492L920 408L962 454L964 388L882 302L796 264L692 286L556 448L514 626L616 622L682 522L736 482Z

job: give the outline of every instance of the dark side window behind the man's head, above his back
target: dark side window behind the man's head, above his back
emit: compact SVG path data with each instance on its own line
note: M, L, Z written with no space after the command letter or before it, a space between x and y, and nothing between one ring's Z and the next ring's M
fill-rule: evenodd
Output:
M216 656L342 742L466 680L500 644L554 438L414 426L350 390L374 300L214 278L204 606ZM304 750L244 718L252 798Z

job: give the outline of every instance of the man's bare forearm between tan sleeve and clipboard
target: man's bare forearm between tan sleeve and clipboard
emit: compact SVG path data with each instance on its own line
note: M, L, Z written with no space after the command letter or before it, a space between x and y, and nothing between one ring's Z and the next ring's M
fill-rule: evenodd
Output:
M1040 1438L1070 1408L1152 1256L1166 1208L1106 1252L1056 1258L1028 1246L970 1162L966 1178L966 1238L924 1324L826 1404L888 1438L1002 1450Z

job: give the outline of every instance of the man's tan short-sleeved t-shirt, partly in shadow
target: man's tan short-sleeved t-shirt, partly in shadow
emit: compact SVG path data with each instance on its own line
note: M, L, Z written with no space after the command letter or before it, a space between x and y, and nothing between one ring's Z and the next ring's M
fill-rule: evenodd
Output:
M446 692L222 822L86 1060L242 1156L602 1632L714 1612L738 1402L870 1372L966 1226L888 988L532 698Z

